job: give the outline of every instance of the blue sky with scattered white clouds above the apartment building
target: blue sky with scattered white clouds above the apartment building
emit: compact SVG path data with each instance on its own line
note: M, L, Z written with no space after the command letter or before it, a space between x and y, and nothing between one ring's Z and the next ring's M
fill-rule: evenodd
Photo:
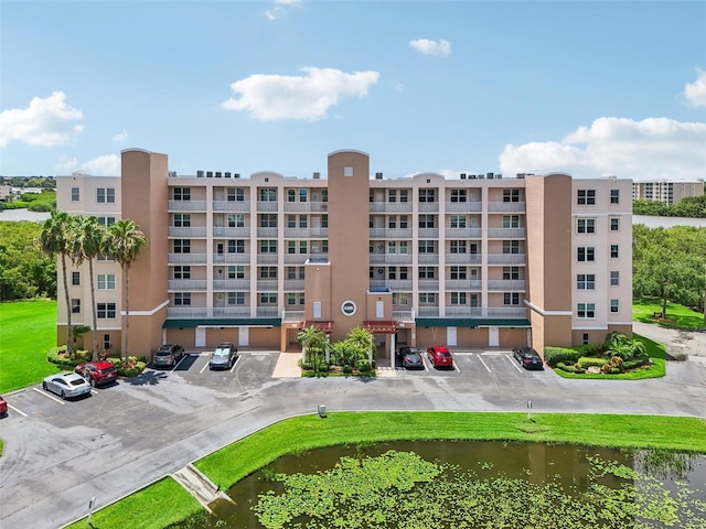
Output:
M0 174L706 177L706 2L0 1Z

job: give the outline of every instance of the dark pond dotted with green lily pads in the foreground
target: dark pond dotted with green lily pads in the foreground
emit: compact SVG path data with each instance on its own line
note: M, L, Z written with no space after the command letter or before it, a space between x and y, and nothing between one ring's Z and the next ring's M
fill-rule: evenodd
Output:
M371 464L367 467L357 468L357 476L352 477L354 485L352 487L350 484L344 485L342 466L352 465L355 467L356 464L360 464L356 462L375 463L391 453L406 454L413 458L405 458L402 463L403 466L398 467L389 466L381 469L379 465ZM416 462L415 457L419 462ZM612 465L609 462L614 462L617 465ZM336 465L339 469L331 471ZM445 488L439 486L438 477L435 477L434 479L428 479L429 483L414 483L409 489L402 490L403 486L400 490L395 492L396 496L387 494L386 490L389 487L385 490L382 490L381 487L375 489L377 485L367 483L376 479L386 482L387 479L397 478L411 467L415 467L414 472L419 472L419 475L424 472L429 472L430 468L432 473L437 473L442 468L441 474L447 475L447 477L451 476L453 482ZM632 473L629 471L631 468L638 472ZM345 472L349 471L351 468ZM341 475L333 475L336 472ZM355 474L355 468L352 468L352 472ZM376 472L381 472L381 474L375 474ZM290 476L289 481L284 478L282 475ZM307 483L309 479L319 479L320 477L323 481L315 485ZM422 479L419 478L419 481L421 482ZM329 483L329 485L325 485L324 482ZM330 485L331 483L334 483L334 485ZM227 494L233 499L233 503L217 501L213 504L213 517L189 527L201 529L268 527L439 527L453 529L458 527L693 527L703 529L706 527L705 483L706 457L704 455L681 454L670 451L631 452L578 445L467 441L420 441L378 443L365 446L330 446L300 455L280 457L264 471L248 476L228 490ZM311 489L307 489L309 486L315 490L312 493ZM331 489L327 492L329 486ZM366 489L366 487L371 486L373 487L372 489ZM346 487L350 487L347 493L344 490ZM432 493L435 500L428 501L429 493L424 493L425 487ZM469 487L475 488L471 490ZM493 487L496 490L493 490ZM332 490L336 497L329 498ZM466 490L466 493L461 493L461 490ZM345 498L339 497L339 493L342 496L347 496ZM314 500L313 506L308 508L313 509L313 511L324 508L338 510L335 512L332 511L330 515L320 512L319 518L315 516L311 518L309 516L291 515L292 509L296 510L297 508L292 507L292 505L306 503L306 497L310 494L314 495ZM427 496L424 496L425 494ZM462 508L468 508L466 506L468 498L475 497L481 499L485 494L489 494L485 499L486 503L496 504L485 506L486 510L491 507L495 509L486 514L486 516L491 517L490 526L481 525L480 522L474 525L469 521L469 515L466 515L462 522L457 520L442 523L439 521L445 519L445 516L453 516L453 510L461 511ZM631 494L633 496L630 496ZM684 494L687 495L684 496ZM288 495L290 500L293 500L293 504L286 504ZM507 497L503 499L503 495ZM596 499L601 495L606 495L606 497ZM681 499L672 501L667 496ZM461 497L466 500L462 508L454 505ZM619 501L616 501L617 497L620 498ZM644 505L651 505L651 503L662 506L664 504L660 507L661 510L668 511L672 509L676 514L673 514L673 516L664 514L655 516L657 518L662 516L663 520L671 520L672 522L676 520L677 523L670 526L659 519L657 521L648 519L640 526L630 525L634 520L640 521L643 518L641 518L641 514L639 515L631 510L632 507L629 506L627 511L624 511L625 507L620 507L622 509L620 516L628 518L628 525L602 526L601 522L605 520L597 520L595 523L586 525L590 516L602 516L600 512L603 510L603 504L617 504L623 501L625 497L631 498L629 499L631 506L640 504L643 507ZM591 501L590 498L600 503L599 507L595 509L598 515L591 511L590 508L581 506L581 501L586 498L589 498L588 503ZM269 505L267 501L269 501ZM404 501L413 503L411 509L409 505L402 505ZM542 501L545 501L545 504L542 505ZM325 507L328 503L330 506ZM539 509L539 511L552 510L555 506L561 504L569 504L569 506L561 512L558 512L560 509L557 509L556 516L559 517L558 519L545 520L544 523L546 525L542 525L543 522L537 520L526 522L526 518L530 516L528 512L532 511L530 506L533 503L536 504L534 508ZM431 507L431 510L434 510L431 515L425 514L425 509L430 509L429 505L426 504L434 506ZM275 505L276 509L281 509L281 512L290 512L289 518L284 516L278 520L278 516L281 517L282 515L279 512L272 516L272 505ZM384 507L381 507L381 505ZM391 505L394 508L391 508ZM692 507L694 505L696 507ZM343 508L343 512L340 512L341 508ZM407 514L404 514L405 508L408 509ZM445 508L447 512L443 512ZM483 506L478 507L477 521L482 519L480 512ZM688 512L677 512L680 509L684 510L684 508ZM363 514L351 512L356 509L361 509ZM402 509L402 514L396 512L394 516L388 516L389 511L395 509ZM265 516L263 519L269 520L267 525L260 523L256 510L261 516ZM372 512L377 512L378 515L385 512L384 516L378 517L379 523L372 521L373 518L367 521L360 519L360 517L371 516ZM639 512L642 512L642 510ZM415 518L414 523L406 518L407 516ZM431 516L431 518L425 519L424 516ZM461 515L457 512L457 516ZM494 520L492 518L494 516L498 517L498 520L504 517L503 523L505 525ZM677 518L674 518L674 516ZM345 521L346 517L352 518ZM513 517L517 518L513 521ZM576 518L576 525L573 525L574 522L569 520L571 517ZM340 525L334 525L333 519L336 519ZM525 521L523 522L521 519L525 519Z

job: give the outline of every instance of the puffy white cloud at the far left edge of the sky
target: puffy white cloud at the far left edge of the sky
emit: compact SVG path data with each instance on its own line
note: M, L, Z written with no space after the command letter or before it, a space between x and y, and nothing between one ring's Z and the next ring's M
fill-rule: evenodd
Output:
M35 97L29 108L12 108L0 112L0 147L10 141L23 141L30 145L54 147L68 143L84 130L73 121L83 114L66 105L63 91L54 91L44 99Z

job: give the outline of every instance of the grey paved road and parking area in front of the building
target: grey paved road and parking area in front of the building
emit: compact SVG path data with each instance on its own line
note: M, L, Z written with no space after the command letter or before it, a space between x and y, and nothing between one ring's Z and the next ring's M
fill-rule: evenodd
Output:
M648 332L643 334L650 335ZM676 338L674 338L676 339ZM698 346L700 347L700 345ZM689 349L691 350L691 349ZM0 526L56 528L280 419L335 410L657 413L706 418L706 363L671 361L645 381L566 380L525 371L503 352L459 352L456 369L377 379L272 378L276 352L245 352L231 371L205 355L62 403L40 388L6 396Z

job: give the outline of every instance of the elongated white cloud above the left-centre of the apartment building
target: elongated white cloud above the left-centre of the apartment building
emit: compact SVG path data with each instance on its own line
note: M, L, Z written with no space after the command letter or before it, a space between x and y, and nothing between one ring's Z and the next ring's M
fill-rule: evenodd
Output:
M256 74L231 85L236 98L223 104L228 110L246 110L255 119L315 121L345 96L365 97L377 83L377 72L346 74L334 68L301 68L306 75Z

